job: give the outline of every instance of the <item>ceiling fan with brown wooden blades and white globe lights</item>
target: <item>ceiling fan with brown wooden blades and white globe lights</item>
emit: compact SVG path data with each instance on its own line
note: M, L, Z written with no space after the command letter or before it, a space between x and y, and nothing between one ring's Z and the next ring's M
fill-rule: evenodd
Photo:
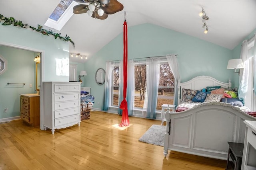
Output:
M74 0L80 3L89 3L79 4L74 6L74 14L83 14L87 13L92 18L98 18L100 20L105 20L108 18L109 14L114 14L118 11L122 11L124 6L117 0Z

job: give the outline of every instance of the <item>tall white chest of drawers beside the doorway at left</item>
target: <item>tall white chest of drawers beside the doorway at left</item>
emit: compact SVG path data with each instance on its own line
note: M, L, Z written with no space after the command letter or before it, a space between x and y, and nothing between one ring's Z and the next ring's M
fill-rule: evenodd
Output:
M43 82L44 130L80 126L80 82Z

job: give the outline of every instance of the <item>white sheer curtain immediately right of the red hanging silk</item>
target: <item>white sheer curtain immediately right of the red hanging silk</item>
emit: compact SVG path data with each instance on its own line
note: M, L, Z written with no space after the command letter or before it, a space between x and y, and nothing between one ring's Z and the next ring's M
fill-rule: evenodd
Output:
M128 60L127 64L127 107L128 115L134 115L134 62L133 60Z

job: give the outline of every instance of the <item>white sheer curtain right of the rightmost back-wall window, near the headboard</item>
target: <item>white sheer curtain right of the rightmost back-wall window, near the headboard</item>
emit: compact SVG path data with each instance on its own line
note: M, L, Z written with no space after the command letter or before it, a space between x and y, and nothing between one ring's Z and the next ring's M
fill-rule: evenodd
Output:
M166 59L168 61L168 64L171 68L171 71L172 71L172 74L173 74L174 80L175 80L173 104L175 104L177 106L178 105L178 81L180 80L180 74L179 74L179 70L178 70L178 62L177 62L176 55L174 55L174 54L166 55Z

